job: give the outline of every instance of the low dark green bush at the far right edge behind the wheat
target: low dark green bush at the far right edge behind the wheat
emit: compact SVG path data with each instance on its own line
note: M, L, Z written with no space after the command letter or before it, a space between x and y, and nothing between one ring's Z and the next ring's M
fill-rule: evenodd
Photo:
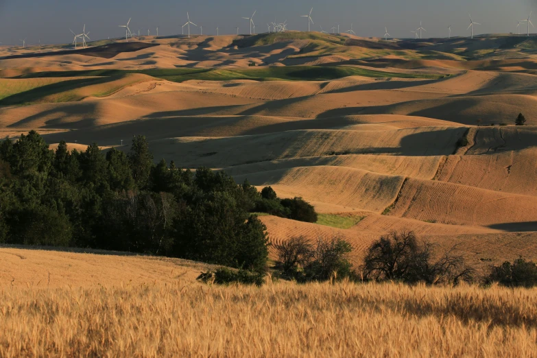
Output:
M534 287L537 286L537 265L522 257L513 263L505 261L499 266L492 265L484 281L488 285L497 282L508 287Z

